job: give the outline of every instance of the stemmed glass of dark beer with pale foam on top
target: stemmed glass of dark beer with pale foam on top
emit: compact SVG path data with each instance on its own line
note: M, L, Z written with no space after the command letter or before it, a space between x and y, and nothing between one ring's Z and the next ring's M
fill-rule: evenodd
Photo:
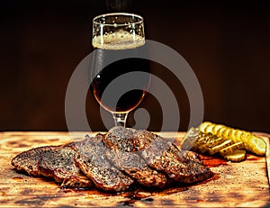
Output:
M147 94L150 74L143 18L113 13L93 20L91 90L112 113L115 125L126 126L127 115Z

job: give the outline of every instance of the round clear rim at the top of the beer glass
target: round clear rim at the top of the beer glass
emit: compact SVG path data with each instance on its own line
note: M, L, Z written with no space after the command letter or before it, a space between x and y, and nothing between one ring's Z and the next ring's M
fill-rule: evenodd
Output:
M117 26L126 26L130 24L138 24L138 23L143 23L143 17L140 16L139 14L132 14L132 13L108 13L108 14L100 14L94 17L93 23L94 24L99 24L103 26L115 26L115 23L98 23L96 22L97 19L100 19L102 17L106 16L117 16L117 15L122 15L122 16L130 16L130 17L137 17L139 20L135 21L134 23L116 23Z

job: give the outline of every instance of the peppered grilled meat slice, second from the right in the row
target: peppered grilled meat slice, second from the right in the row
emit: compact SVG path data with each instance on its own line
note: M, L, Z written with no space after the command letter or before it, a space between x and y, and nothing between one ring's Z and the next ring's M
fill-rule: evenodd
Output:
M148 167L146 162L135 152L125 152L114 148L106 149L106 157L140 185L160 188L166 185L166 176Z

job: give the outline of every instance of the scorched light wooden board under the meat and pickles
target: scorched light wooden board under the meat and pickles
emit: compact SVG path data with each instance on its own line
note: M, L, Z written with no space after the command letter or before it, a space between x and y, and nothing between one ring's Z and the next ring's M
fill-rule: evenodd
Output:
M76 132L84 137L85 132ZM161 133L170 138L171 132ZM184 133L177 133L179 143ZM268 142L268 138L265 139ZM53 181L18 173L10 164L23 150L70 141L68 132L0 132L0 207L269 207L266 157L247 156L240 163L208 158L216 177L198 185L162 192L106 194L95 189L61 189ZM219 161L217 163L217 161ZM211 162L213 162L211 164ZM213 166L214 164L214 166ZM268 166L269 167L269 166ZM268 171L269 173L269 171Z

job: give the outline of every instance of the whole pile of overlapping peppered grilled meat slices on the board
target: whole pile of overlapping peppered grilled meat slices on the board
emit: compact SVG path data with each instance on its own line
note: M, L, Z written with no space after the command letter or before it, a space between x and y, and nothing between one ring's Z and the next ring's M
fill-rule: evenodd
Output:
M114 127L106 134L59 146L22 152L12 159L17 170L48 176L64 187L127 191L132 185L164 188L213 176L198 154L181 150L150 131Z

